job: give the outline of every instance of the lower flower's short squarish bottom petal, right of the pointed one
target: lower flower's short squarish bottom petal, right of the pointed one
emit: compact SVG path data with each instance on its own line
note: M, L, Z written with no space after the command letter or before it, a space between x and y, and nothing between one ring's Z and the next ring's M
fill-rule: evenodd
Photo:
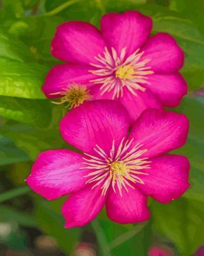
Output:
M106 203L107 216L122 224L148 220L150 212L146 205L147 196L138 189L128 187L128 190L127 192L123 188L122 196L120 196L118 188L116 188L116 193L113 188L110 188Z

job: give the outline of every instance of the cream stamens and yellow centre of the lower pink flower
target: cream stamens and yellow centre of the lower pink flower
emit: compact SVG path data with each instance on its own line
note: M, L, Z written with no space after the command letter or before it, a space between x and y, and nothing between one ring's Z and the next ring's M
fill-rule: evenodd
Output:
M90 169L93 172L88 173L85 177L90 177L86 183L93 183L92 189L96 186L101 186L102 195L106 195L107 189L112 184L113 191L116 193L116 188L122 196L122 189L128 192L128 187L134 189L134 183L139 182L144 184L141 175L148 173L141 172L142 169L150 168L148 157L141 157L147 150L140 148L141 144L132 146L132 140L121 141L118 150L114 146L107 154L98 145L94 148L97 155L92 156L85 154L88 158L83 157L86 167L81 169Z

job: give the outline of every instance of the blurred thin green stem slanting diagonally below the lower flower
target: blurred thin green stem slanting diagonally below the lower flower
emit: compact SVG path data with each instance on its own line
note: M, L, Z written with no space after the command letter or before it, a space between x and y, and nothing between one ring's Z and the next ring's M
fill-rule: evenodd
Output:
M121 236L116 237L116 239L114 239L109 244L109 247L111 249L113 249L113 248L119 246L120 244L125 243L130 238L136 236L136 234L139 233L145 226L146 226L146 223L145 224L137 224L137 226L132 228L132 230L129 230L129 231L125 232L125 234L122 234Z

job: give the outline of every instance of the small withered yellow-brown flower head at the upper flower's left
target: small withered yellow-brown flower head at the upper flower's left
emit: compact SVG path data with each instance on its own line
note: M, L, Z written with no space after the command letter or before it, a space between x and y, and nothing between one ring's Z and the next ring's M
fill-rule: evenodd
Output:
M61 102L52 102L54 104L63 104L67 103L65 108L72 109L76 108L84 102L84 100L90 100L90 90L86 88L85 85L81 84L68 84L67 88L64 88L61 94Z

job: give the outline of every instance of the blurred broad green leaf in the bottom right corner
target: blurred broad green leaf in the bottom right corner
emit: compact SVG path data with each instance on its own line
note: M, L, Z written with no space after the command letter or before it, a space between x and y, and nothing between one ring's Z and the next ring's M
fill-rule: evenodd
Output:
M170 204L153 202L153 226L177 244L181 255L192 255L204 243L204 203L180 198Z

